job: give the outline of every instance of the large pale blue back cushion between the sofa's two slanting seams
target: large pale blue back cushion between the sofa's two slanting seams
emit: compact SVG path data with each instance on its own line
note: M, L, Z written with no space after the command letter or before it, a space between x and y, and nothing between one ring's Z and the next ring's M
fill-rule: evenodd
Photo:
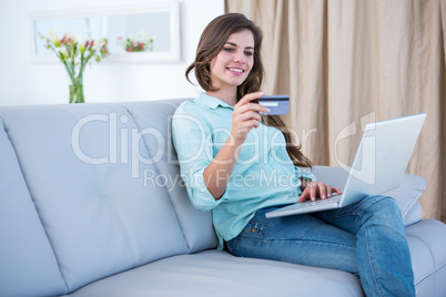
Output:
M1 114L69 291L187 253L165 188L144 184L142 173L156 168L138 163L134 172L132 154L150 155L125 109L9 106Z

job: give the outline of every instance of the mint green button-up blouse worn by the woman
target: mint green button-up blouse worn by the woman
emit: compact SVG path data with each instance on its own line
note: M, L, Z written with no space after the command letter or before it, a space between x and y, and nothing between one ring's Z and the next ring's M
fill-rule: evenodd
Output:
M262 123L249 133L226 191L215 201L203 171L231 134L233 110L227 103L200 93L195 100L183 102L172 119L181 176L192 204L201 211L212 209L219 249L223 248L223 240L242 232L257 209L296 203L302 194L300 178L315 180L310 171L293 165L282 132Z

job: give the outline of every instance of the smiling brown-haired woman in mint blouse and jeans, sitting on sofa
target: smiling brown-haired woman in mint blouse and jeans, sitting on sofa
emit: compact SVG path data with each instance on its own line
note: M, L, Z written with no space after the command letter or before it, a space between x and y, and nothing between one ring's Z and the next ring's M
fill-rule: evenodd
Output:
M173 141L193 205L213 209L219 249L341 269L359 276L367 296L414 296L410 255L395 201L371 196L341 209L281 218L286 204L341 191L316 182L278 116L265 116L262 32L243 14L214 19L187 68L204 93L182 103Z

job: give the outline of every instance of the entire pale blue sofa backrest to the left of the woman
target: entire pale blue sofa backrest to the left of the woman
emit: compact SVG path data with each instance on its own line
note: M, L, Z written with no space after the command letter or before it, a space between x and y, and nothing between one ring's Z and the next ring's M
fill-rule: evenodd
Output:
M176 176L180 102L0 106L0 296L67 294L216 246Z

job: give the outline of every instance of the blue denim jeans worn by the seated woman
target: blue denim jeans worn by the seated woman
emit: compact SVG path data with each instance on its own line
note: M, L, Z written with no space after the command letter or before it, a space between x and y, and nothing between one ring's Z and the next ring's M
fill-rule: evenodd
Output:
M231 254L348 272L366 296L415 296L401 211L394 198L369 196L313 214L266 218L260 209L226 242Z

